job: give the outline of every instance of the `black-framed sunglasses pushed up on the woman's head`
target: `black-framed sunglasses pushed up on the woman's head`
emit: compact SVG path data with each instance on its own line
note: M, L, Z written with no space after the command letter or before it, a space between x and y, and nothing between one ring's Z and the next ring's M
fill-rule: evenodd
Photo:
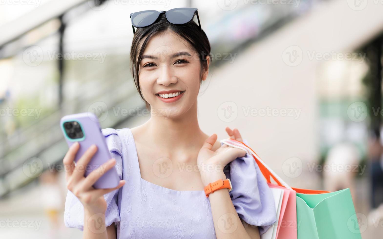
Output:
M198 25L202 31L197 8L173 8L169 11L147 10L131 13L130 19L132 20L133 34L136 33L134 27L144 28L150 26L155 23L161 13L164 13L166 19L172 24L187 24L193 20L195 15L197 15Z

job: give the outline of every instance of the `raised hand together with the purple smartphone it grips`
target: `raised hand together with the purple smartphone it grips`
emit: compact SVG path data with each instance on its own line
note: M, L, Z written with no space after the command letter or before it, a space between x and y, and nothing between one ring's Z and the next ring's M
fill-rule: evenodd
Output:
M97 118L91 113L67 115L60 121L69 150L63 159L67 188L92 212L105 213L104 194L119 189L115 159Z

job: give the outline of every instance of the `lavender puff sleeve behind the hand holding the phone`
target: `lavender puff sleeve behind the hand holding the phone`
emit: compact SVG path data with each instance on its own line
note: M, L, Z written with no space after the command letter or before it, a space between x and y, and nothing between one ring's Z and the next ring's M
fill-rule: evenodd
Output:
M104 128L101 130L103 133L106 145L114 159L116 159L116 170L120 180L122 179L122 145L117 131L113 128ZM120 210L118 207L118 193L119 190L115 190L104 195L107 203L107 209L105 212L105 225L110 226L115 223L115 226L120 221ZM68 190L67 198L65 200L64 211L64 223L68 228L78 228L83 231L84 221L84 208L80 200Z

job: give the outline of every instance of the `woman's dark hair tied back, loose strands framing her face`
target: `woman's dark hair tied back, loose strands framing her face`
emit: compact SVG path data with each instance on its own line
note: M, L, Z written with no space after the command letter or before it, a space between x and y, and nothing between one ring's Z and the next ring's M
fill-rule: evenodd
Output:
M187 42L189 42L191 47L193 47L193 50L195 50L195 52L197 52L199 55L201 62L200 83L203 72L209 67L206 62L206 56L210 56L210 42L205 32L203 30L201 32L200 27L194 21L190 21L190 23L187 24L172 24L166 20L165 14L160 14L159 18L154 24L145 28L137 28L130 49L130 68L133 75L134 84L136 85L138 93L144 100L148 109L150 106L142 96L138 79L138 70L141 62L141 57L144 53L147 42L149 42L152 36L157 36L158 34L165 33L169 30L175 34L178 34ZM142 46L140 46L142 41Z

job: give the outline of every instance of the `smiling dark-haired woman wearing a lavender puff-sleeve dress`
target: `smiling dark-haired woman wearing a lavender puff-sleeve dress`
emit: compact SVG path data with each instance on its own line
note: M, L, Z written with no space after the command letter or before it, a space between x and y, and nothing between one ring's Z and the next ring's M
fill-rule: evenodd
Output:
M105 171L86 178L76 171L97 148L89 148L76 166L79 145L68 150L65 225L83 230L84 238L260 238L276 219L258 166L245 151L220 145L216 134L209 137L198 125L197 95L211 62L208 38L192 21L198 13L150 12L157 15L132 18L139 28L131 70L151 118L134 128L102 130L113 154L105 171L115 166L121 179L114 189L92 187ZM146 20L147 26L139 25ZM226 132L242 141L237 129ZM224 171L228 164L230 171ZM229 177L230 193L227 187L206 195L205 186Z

